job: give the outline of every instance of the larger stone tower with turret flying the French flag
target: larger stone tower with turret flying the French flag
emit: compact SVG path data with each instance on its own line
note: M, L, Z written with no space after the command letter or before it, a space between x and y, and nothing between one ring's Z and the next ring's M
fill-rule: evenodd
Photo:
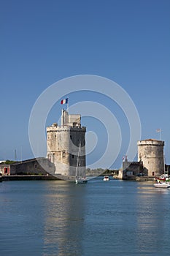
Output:
M74 179L80 152L81 175L85 176L85 132L80 115L62 110L61 126L47 127L47 158L55 165L55 176Z

